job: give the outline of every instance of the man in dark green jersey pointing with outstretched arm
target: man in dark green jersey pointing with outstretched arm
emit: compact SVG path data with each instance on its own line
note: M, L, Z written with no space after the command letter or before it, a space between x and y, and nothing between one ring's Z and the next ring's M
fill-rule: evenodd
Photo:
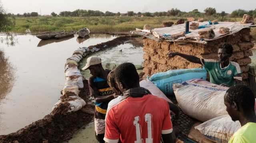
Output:
M229 61L232 54L232 45L223 44L218 49L218 60L200 59L198 57L179 52L170 52L169 57L178 55L192 63L201 64L208 71L211 83L230 87L242 83L240 66L236 62Z

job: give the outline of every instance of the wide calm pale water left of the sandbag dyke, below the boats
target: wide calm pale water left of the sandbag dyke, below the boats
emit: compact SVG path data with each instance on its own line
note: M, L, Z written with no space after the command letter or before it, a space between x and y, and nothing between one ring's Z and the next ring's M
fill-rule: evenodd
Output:
M40 41L33 35L0 35L0 135L17 131L51 112L65 83L64 64L74 50L114 39Z

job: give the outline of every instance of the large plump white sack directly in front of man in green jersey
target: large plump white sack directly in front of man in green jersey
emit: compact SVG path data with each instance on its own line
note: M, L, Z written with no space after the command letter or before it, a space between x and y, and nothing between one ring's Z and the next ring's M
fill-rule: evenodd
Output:
M180 108L192 118L204 122L228 114L224 105L228 87L194 79L174 84L173 89Z

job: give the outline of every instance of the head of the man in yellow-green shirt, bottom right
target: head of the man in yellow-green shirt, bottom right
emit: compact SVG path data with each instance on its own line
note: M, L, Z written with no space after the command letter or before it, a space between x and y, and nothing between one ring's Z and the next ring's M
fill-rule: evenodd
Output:
M232 120L237 121L241 115L249 116L248 113L254 112L255 99L252 90L240 84L227 90L224 104Z

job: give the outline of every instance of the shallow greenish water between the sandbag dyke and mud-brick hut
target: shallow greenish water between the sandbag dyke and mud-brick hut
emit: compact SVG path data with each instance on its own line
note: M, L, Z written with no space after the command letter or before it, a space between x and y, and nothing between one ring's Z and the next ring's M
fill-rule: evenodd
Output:
M128 41L123 45L118 45L117 47L106 49L104 51L99 51L93 54L102 59L103 66L112 69L115 66L120 65L124 62L133 63L136 68L140 68L143 62L143 51L142 43L136 44L134 41ZM86 58L80 63L80 68L84 67L86 64ZM106 66L109 65L109 66ZM141 72L141 70L137 70ZM90 77L89 71L82 71L82 74L88 78ZM76 133L70 141L65 143L98 143L95 139L94 134L94 121L86 125L84 129L81 129Z

